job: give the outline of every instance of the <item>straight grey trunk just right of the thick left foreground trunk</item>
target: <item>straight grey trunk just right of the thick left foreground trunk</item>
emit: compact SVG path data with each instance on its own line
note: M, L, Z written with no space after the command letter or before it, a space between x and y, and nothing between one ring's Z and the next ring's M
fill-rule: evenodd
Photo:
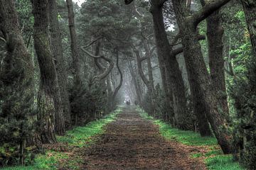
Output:
M55 60L56 72L58 75L58 84L61 96L61 108L65 117L65 128L69 129L71 125L70 101L67 89L67 72L65 70L65 60L63 57L63 47L60 35L60 26L58 23L58 11L56 0L49 0L50 17L50 47Z

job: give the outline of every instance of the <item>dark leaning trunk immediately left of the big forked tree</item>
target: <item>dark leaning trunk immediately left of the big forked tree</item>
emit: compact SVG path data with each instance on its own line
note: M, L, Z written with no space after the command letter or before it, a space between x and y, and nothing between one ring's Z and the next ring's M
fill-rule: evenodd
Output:
M171 84L171 91L173 92L174 101L174 116L176 126L183 130L188 130L186 125L186 95L185 86L181 75L181 70L178 67L176 55L171 54L171 45L167 39L166 31L164 28L164 17L162 13L162 6L159 5L159 1L152 1L151 14L154 21L154 34L156 40L156 51L161 60L164 61L166 67L166 79ZM163 63L159 60L159 64Z

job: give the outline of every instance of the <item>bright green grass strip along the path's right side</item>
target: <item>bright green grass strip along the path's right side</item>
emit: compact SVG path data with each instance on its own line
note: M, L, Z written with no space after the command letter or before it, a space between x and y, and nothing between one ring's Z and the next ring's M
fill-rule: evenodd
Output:
M191 154L192 158L204 157L206 165L210 170L245 170L233 161L232 155L224 155L217 145L215 137L201 137L200 134L193 131L178 130L172 128L168 123L162 120L157 120L149 116L142 108L137 108L137 111L146 120L151 120L155 125L159 125L159 132L167 140L175 140L181 142L183 145L190 146L208 146L210 151L206 154L196 153Z

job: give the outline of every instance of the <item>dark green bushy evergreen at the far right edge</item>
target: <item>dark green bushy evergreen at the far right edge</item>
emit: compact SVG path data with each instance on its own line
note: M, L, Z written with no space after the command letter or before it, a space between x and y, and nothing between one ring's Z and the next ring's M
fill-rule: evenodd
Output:
M252 57L253 58L253 57ZM255 169L256 162L256 62L247 65L246 77L235 79L231 89L237 109L238 123L235 145L240 150L240 161L248 169Z

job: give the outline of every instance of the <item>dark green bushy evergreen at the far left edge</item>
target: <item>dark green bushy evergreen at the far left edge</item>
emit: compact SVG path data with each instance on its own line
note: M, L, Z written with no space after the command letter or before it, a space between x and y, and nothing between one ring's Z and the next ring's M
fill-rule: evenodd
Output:
M21 60L11 51L6 54L0 73L0 166L29 162L25 141L33 133L31 118L36 113L28 89L32 80L26 79Z

